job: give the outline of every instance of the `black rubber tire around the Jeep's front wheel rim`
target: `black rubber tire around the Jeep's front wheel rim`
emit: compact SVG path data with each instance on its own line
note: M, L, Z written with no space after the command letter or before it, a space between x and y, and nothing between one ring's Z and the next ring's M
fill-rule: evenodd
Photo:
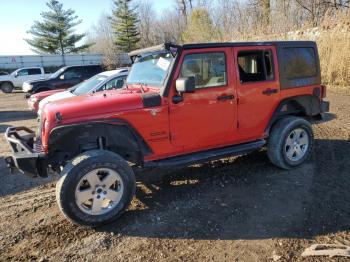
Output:
M75 190L82 177L97 168L116 171L122 179L121 199L111 210L100 215L86 214L76 203ZM105 150L87 151L68 163L56 185L56 200L62 213L78 225L96 227L115 221L129 206L135 194L135 175L128 163L119 155Z

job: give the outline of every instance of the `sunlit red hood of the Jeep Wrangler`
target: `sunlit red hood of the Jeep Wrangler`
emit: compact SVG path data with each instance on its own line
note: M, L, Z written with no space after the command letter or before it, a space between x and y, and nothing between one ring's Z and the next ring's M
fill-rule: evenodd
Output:
M143 108L145 93L159 93L159 89L121 89L70 97L46 104L45 119L56 122L59 113L63 124L108 118L125 111Z

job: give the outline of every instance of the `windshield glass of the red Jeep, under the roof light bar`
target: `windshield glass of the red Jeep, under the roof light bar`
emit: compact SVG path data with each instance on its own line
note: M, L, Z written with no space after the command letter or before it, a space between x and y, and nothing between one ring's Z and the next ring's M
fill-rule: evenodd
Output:
M138 57L126 83L161 87L173 60L173 56L166 52Z

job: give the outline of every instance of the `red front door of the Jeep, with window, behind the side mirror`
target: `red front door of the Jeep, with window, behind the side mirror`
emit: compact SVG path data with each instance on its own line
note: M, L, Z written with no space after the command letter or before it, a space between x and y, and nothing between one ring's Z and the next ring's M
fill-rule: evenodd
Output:
M208 51L209 50L209 51ZM237 127L232 48L184 50L175 79L195 77L194 93L170 101L171 142L185 150L202 150L232 140ZM175 81L170 99L177 95Z

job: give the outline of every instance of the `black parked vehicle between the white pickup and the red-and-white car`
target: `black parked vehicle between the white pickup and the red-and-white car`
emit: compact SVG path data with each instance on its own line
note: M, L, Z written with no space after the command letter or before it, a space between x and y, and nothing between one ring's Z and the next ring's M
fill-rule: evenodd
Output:
M29 93L28 98L43 91L67 89L101 72L100 65L66 66L57 70L48 79L25 82L22 90Z

